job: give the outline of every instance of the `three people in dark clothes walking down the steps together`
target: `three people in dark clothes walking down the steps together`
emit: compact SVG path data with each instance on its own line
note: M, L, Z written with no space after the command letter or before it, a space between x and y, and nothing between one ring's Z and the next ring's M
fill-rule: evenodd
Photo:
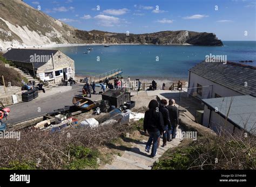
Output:
M164 147L167 141L171 141L176 137L178 122L179 112L175 106L174 99L169 100L169 105L167 105L166 99L161 99L160 103L157 100L151 100L149 110L145 112L144 117L144 132L150 135L146 143L145 152L150 152L153 142L151 157L155 157L160 144L160 135L163 135L162 147Z

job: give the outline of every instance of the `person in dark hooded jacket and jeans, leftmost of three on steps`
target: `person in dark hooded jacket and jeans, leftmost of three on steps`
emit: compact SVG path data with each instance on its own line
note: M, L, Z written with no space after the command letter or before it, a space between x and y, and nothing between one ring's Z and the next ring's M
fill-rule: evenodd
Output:
M157 155L158 140L160 139L160 132L164 132L164 120L161 112L158 112L158 102L157 100L151 100L149 103L149 110L145 112L144 117L144 132L150 134L150 138L146 143L145 152L150 152L151 143L153 142L151 157Z

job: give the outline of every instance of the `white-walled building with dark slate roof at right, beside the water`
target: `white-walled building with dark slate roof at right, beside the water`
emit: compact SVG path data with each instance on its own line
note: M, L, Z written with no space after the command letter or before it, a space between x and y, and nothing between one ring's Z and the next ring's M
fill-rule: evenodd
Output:
M199 99L250 95L256 97L256 67L227 62L201 62L188 76L188 93Z

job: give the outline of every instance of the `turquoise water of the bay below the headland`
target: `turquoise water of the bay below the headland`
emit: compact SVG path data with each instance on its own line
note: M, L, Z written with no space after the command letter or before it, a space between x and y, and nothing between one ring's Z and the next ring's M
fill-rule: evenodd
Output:
M123 68L124 76L187 78L188 69L206 55L227 55L228 61L253 60L256 66L256 41L224 41L224 46L79 46L58 47L75 60L77 75L97 75ZM90 54L83 54L93 48ZM158 56L159 61L156 61ZM97 61L99 57L99 61Z

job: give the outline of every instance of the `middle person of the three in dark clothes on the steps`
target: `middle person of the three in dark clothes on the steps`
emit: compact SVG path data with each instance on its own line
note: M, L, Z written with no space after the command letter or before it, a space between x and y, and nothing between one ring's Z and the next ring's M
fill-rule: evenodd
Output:
M160 104L159 104L159 112L161 112L163 115L164 130L165 130L165 133L163 133L163 146L162 147L166 146L167 136L170 136L170 131L168 131L168 130L171 129L169 110L166 105L167 105L167 100L161 99Z

